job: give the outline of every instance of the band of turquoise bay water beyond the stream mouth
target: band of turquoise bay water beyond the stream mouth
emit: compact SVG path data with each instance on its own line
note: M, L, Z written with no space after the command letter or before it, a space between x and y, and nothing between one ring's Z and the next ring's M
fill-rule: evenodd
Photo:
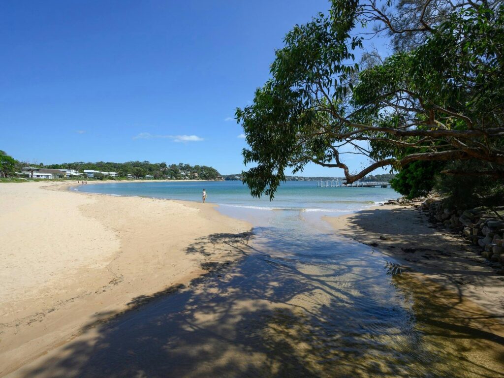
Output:
M211 182L118 182L82 185L77 190L120 196L168 198L201 201L207 191L207 202L223 207L255 210L293 210L305 212L355 211L396 199L400 195L391 188L317 187L316 181L287 181L280 186L275 199L250 196L241 181Z

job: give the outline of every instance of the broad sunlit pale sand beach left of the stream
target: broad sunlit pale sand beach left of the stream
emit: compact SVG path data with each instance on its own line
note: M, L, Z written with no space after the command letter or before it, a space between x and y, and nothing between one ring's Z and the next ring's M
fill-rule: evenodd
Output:
M235 259L219 235L242 242L250 229L210 204L61 190L68 184L0 183L0 376L91 320Z

